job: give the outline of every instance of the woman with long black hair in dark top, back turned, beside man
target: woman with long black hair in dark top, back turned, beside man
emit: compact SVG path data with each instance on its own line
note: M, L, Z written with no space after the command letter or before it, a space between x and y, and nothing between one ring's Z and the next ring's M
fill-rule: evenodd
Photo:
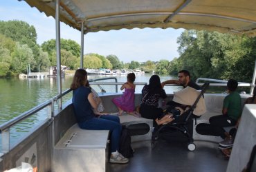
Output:
M143 118L153 119L163 116L163 109L158 108L159 98L166 98L165 90L162 88L158 75L152 75L149 85L145 85L142 90L142 100L140 103L140 114Z

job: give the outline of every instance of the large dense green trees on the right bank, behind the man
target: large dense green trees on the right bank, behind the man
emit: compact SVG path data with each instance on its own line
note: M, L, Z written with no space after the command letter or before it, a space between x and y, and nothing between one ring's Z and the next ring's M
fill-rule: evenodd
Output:
M250 80L255 63L255 38L219 32L185 30L178 39L180 57L169 66L188 69L192 77Z

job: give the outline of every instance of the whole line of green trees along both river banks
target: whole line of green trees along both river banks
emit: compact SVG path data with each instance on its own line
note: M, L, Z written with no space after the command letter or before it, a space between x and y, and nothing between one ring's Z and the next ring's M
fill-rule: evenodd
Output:
M0 21L0 76L48 72L56 65L55 39L38 45L33 25L24 21ZM179 57L172 61L131 61L123 63L116 55L85 54L84 67L143 69L147 73L177 75L188 69L193 78L235 78L250 82L256 59L256 39L246 35L221 34L205 30L185 30L177 39ZM80 67L80 45L61 39L61 64Z

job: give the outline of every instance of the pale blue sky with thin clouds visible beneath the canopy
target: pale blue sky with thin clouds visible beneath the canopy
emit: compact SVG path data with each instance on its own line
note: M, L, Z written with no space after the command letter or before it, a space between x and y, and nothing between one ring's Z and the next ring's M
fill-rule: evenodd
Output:
M55 19L46 17L37 8L31 8L25 1L0 0L0 21L21 20L33 25L37 31L37 43L55 39ZM60 24L62 39L71 39L80 45L80 31L65 23ZM183 29L122 29L108 32L88 33L84 36L84 54L97 53L102 56L116 55L120 61L172 61L179 57L177 38Z

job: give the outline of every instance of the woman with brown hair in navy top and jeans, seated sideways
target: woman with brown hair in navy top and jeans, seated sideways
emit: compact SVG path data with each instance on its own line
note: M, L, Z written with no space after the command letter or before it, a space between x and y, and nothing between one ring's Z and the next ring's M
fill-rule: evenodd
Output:
M129 162L129 159L118 153L122 131L118 116L102 115L97 117L93 114L93 109L97 109L99 102L93 99L91 89L86 87L86 83L87 72L84 69L77 69L71 84L71 89L73 90L72 103L77 124L81 129L109 130L111 133L111 156L109 162L121 164Z

